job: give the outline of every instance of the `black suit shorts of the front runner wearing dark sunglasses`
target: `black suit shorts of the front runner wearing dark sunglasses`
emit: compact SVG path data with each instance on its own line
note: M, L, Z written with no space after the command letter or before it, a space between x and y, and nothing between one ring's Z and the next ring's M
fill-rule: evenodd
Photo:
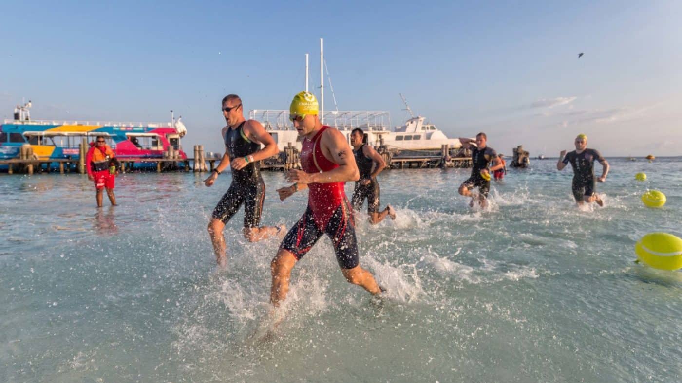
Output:
M265 183L263 179L248 182L232 181L230 188L213 210L213 218L220 219L227 224L239 206L244 204L244 227L257 228L261 224L265 200Z

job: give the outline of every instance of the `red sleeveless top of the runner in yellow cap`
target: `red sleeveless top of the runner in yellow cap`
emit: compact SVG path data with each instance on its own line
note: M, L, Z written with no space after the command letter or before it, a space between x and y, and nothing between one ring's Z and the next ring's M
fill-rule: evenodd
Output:
M301 148L301 168L306 173L328 172L338 168L338 164L329 161L322 153L320 140L323 132L330 129L329 126L323 127L312 139L303 140ZM315 223L320 228L325 228L329 218L336 211L338 206L346 199L343 182L332 183L310 183L308 194L308 206L312 210Z

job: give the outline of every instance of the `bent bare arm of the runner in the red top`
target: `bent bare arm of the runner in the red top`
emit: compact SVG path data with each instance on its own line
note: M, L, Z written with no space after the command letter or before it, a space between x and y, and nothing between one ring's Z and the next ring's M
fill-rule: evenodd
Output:
M360 179L353 151L341 132L336 129L325 130L320 139L320 147L325 157L337 164L338 168L320 173L306 173L292 169L286 174L286 180L300 184L348 182Z

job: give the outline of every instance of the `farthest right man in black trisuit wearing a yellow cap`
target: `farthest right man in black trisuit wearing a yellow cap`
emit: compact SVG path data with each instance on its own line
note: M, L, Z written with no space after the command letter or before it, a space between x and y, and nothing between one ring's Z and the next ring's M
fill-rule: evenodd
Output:
M561 151L559 153L559 162L557 162L557 170L563 170L570 162L573 167L573 196L576 198L576 203L582 205L585 202L597 202L599 206L604 206L604 202L597 195L594 162L595 159L602 164L602 176L596 181L606 181L606 174L608 174L609 165L606 159L595 149L587 149L587 136L578 134L576 137L576 150L566 153Z

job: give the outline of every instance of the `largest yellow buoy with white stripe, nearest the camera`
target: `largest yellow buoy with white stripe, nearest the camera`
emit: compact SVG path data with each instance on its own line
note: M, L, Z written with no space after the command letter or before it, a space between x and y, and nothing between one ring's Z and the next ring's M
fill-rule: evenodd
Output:
M635 254L642 262L655 269L682 268L682 239L664 232L653 232L637 241Z

